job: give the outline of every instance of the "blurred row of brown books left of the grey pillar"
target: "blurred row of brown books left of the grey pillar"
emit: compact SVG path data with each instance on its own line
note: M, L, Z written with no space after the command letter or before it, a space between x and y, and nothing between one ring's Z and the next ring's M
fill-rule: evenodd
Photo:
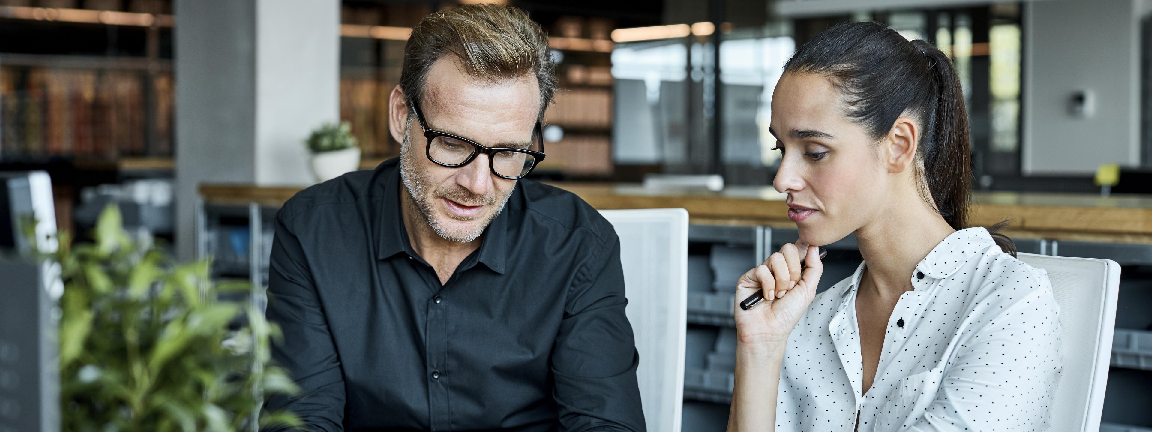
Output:
M0 152L17 158L170 156L173 98L166 73L0 67ZM150 105L156 107L153 138Z

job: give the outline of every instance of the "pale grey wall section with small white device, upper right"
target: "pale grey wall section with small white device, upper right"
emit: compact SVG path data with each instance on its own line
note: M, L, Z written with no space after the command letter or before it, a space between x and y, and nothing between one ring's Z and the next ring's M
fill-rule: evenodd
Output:
M1024 6L1024 174L1091 174L1139 164L1140 0L1051 0ZM1075 118L1079 90L1096 113Z

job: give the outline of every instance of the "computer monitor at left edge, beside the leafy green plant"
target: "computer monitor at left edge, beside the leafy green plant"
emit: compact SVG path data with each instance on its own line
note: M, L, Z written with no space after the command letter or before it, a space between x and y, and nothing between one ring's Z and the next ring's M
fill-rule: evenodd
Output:
M35 220L35 240L25 223ZM60 431L59 265L52 181L0 173L0 432Z

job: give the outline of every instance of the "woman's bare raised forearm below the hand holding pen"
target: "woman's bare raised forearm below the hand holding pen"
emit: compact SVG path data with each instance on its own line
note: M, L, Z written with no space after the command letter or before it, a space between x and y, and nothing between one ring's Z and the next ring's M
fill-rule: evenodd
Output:
M785 344L736 347L736 386L728 412L728 432L776 430L776 391Z

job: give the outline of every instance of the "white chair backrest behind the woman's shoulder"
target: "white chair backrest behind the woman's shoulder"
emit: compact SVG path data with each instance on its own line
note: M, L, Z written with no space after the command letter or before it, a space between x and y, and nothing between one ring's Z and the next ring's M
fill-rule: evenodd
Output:
M1063 366L1048 411L1048 431L1097 431L1108 381L1120 265L1111 259L1032 253L1020 253L1018 258L1048 272L1060 305Z

